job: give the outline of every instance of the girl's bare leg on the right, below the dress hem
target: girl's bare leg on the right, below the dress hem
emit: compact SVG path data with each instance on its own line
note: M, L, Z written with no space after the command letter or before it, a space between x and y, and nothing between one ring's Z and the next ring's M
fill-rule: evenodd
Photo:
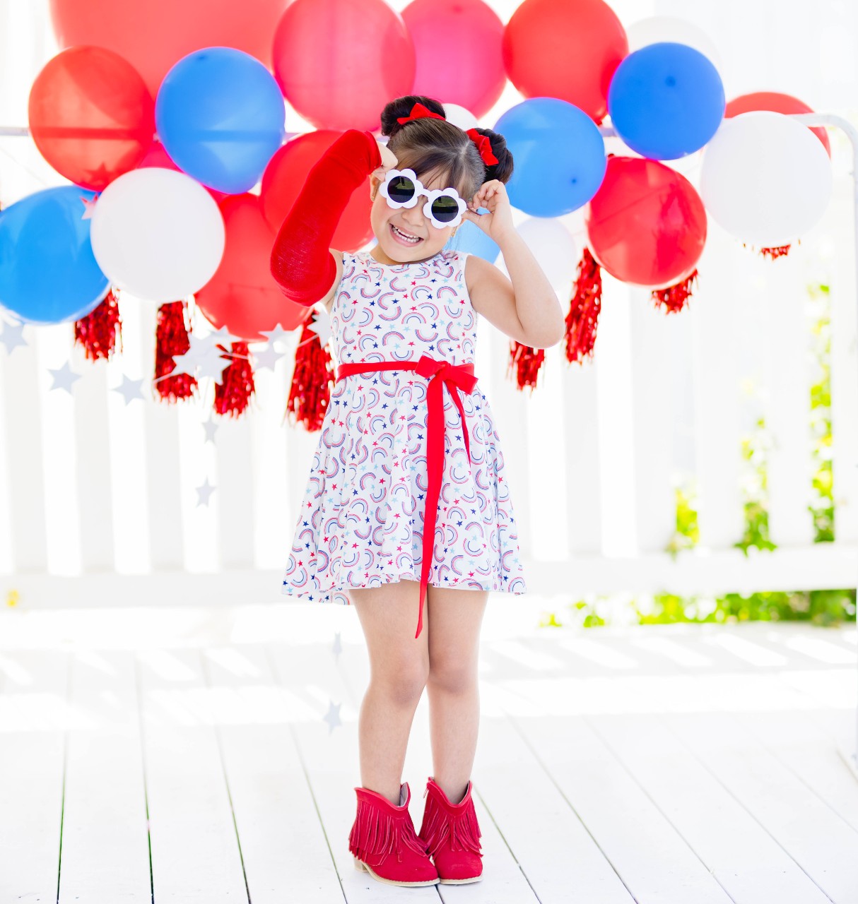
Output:
M477 658L488 598L488 590L427 589L424 617L432 628L426 687L434 780L453 804L467 790L477 748Z

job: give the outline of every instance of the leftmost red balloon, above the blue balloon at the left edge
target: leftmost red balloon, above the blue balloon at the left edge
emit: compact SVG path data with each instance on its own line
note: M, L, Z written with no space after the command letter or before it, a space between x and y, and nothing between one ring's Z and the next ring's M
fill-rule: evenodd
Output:
M155 135L146 85L105 47L71 47L49 60L30 89L28 116L44 159L94 192L134 169Z

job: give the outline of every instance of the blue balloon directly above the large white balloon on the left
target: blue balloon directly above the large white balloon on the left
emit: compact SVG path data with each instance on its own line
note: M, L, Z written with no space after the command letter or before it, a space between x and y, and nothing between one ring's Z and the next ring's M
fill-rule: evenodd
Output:
M155 127L179 169L209 188L238 194L259 182L283 143L285 109L260 61L231 47L205 47L167 72Z

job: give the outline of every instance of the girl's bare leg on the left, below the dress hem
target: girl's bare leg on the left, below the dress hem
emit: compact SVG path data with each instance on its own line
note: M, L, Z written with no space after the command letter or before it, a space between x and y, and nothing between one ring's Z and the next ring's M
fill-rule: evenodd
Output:
M418 581L349 588L348 596L367 638L370 664L358 719L360 782L398 806L408 735L429 673L428 598L423 630L415 638Z

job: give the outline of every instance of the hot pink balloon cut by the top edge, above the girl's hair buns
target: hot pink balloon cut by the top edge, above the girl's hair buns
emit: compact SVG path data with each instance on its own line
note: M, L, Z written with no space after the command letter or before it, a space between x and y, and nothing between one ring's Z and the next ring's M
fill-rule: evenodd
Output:
M488 113L507 80L498 14L482 0L414 0L402 17L415 42L413 93Z

